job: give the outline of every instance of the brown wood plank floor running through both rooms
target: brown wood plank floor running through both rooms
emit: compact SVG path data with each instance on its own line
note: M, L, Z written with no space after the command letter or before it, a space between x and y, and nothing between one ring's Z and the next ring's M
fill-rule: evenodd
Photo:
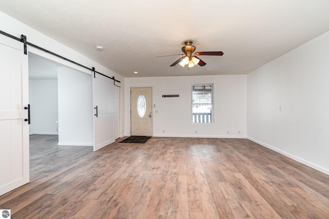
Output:
M329 218L329 176L246 139L57 146L31 135L12 218Z

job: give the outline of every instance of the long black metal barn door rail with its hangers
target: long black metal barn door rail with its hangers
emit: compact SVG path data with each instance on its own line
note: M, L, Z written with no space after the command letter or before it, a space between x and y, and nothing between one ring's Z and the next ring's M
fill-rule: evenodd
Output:
M62 58L62 59L64 59L65 61L68 61L68 62L70 62L70 63L72 63L72 64L75 64L75 65L80 66L80 67L82 67L82 68L88 69L89 71L93 71L94 74L97 73L97 74L103 75L103 76L105 76L105 77L107 77L107 78L110 78L110 79L112 79L112 80L114 81L114 83L115 83L115 82L119 82L119 83L121 83L120 81L118 81L117 79L115 79L114 76L113 76L113 77L109 77L109 76L107 76L107 75L105 75L105 74L102 74L102 73L100 73L100 72L98 72L98 71L95 71L95 68L94 68L94 67L93 67L93 68L88 68L88 67L86 67L86 66L84 66L84 65L81 65L81 64L79 64L79 63L76 63L76 62L72 61L71 59L65 58L64 56L61 56L61 55L59 55L59 54L56 54L56 53L51 52L51 51L49 51L49 50L46 50L46 49L44 49L44 48L42 48L42 47L36 46L36 45L34 45L34 44L31 44L31 43L27 42L27 40L26 40L26 36L23 35L23 34L21 35L21 38L18 38L18 37L16 37L16 36L13 36L13 35L11 35L11 34L9 34L9 33L6 33L6 32L4 32L4 31L2 31L2 30L0 30L0 34L5 35L5 36L8 36L8 37L10 37L10 38L12 38L12 39L15 39L16 41L20 41L20 42L22 42L22 43L24 44L24 54L25 54L25 55L27 55L27 45L29 45L29 46L32 46L32 47L34 47L34 48L36 48L36 49L40 49L40 50L42 50L42 51L44 51L44 52L47 52L47 53L49 53L49 54L51 54L51 55L54 55L54 56L56 56L56 57Z

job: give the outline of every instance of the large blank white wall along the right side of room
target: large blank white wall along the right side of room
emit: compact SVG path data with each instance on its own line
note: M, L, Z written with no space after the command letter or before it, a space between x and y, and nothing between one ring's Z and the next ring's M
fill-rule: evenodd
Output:
M329 32L247 75L248 138L326 174L328 48Z

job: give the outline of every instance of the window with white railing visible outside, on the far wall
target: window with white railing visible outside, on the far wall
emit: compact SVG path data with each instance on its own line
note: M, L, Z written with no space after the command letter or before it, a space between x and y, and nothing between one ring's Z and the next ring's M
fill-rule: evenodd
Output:
M213 84L192 85L192 123L212 123Z

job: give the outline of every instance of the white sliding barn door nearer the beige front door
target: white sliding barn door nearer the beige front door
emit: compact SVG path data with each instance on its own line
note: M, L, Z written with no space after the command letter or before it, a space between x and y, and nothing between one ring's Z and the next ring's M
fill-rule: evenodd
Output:
M94 151L115 142L114 87L112 79L93 76Z

